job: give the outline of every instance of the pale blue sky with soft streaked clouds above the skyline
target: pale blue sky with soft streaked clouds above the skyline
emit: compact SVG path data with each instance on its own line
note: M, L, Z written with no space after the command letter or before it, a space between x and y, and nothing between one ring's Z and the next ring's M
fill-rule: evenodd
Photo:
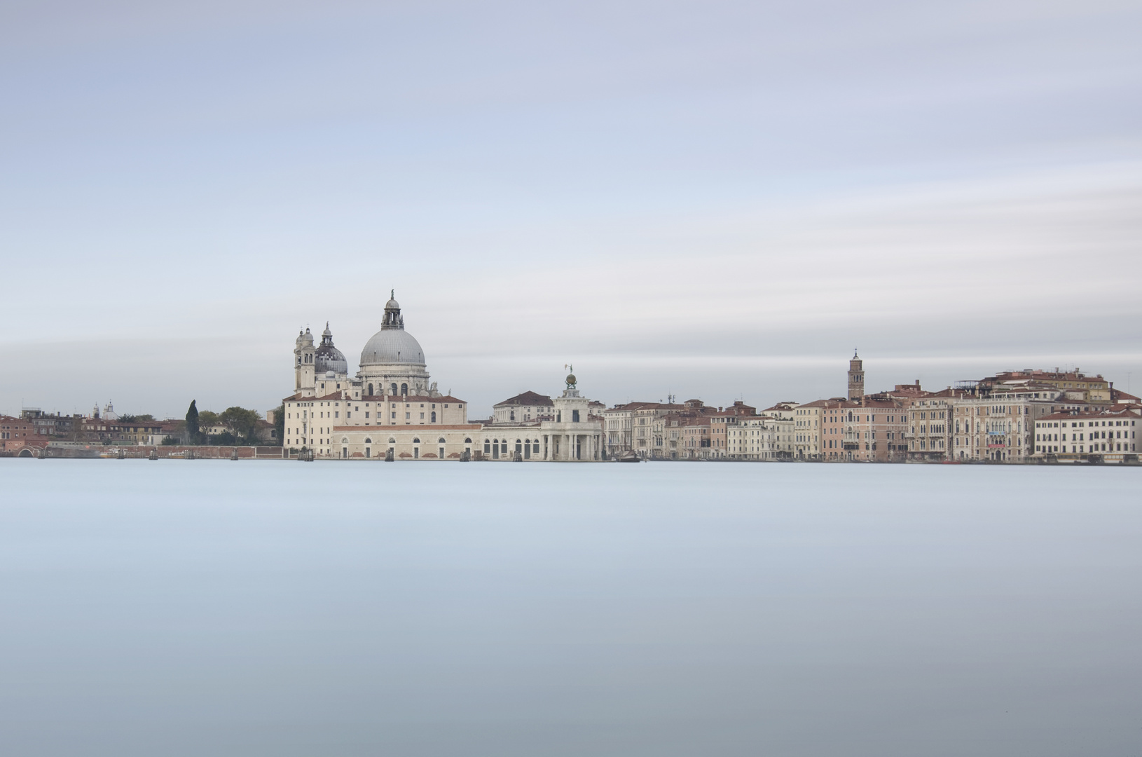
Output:
M0 412L1142 393L1142 3L0 5Z

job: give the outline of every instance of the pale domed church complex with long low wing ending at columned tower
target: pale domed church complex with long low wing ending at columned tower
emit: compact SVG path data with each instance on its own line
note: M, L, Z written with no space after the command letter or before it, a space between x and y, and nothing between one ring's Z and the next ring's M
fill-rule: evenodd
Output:
M550 421L526 427L468 422L467 403L429 381L420 344L404 330L395 297L380 331L349 376L329 325L314 345L308 329L293 348L295 392L282 401L287 449L316 459L587 461L602 456L602 422L568 377ZM489 433L493 432L493 433Z

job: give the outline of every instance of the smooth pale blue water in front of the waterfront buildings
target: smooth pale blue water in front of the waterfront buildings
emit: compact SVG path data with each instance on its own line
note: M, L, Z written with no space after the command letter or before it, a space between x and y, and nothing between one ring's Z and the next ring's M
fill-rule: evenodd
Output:
M1139 757L1140 484L5 459L0 754Z

